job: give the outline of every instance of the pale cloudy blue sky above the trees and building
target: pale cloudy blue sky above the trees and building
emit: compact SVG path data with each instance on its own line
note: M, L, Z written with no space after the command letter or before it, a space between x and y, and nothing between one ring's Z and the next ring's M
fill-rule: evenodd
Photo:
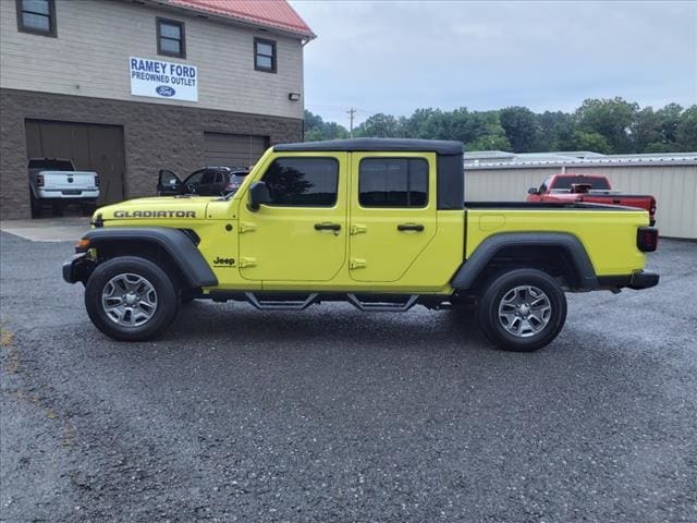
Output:
M586 98L697 104L697 2L291 0L305 46L305 108L348 124L372 113Z

